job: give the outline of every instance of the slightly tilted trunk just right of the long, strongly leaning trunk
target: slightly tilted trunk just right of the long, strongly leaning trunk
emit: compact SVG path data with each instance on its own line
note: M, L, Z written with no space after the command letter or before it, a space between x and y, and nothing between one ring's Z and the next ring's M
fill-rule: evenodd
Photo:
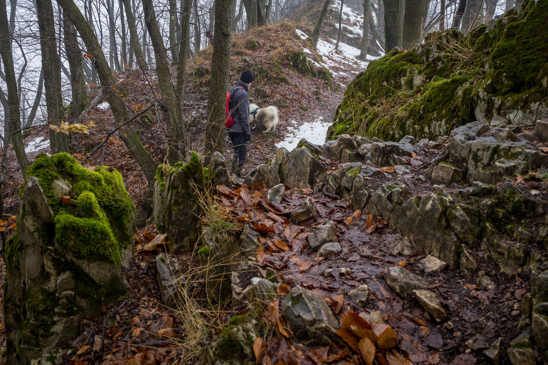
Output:
M169 73L169 61L162 40L162 33L156 21L156 13L152 6L152 0L142 0L142 10L145 15L145 24L150 33L150 40L154 55L156 57L156 74L158 76L158 87L163 105L167 107L169 115L168 130L168 162L170 165L178 163L184 155L181 153L181 141L176 138L177 131L181 130L178 107L175 105L175 92ZM175 48L175 47L174 47ZM184 147L183 147L184 148Z

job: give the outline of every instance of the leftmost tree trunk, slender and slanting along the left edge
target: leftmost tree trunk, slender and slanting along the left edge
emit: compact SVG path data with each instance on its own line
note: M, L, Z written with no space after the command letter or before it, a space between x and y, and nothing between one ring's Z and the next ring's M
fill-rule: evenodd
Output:
M55 42L55 41L54 41ZM8 30L8 14L5 7L5 0L0 0L0 56L4 64L4 75L6 86L8 88L8 108L9 108L9 130L16 131L21 129L21 112L19 109L19 97L17 96L17 82L15 80L15 69L13 67L12 45L10 44L10 35ZM23 179L27 175L28 158L25 154L25 145L21 132L16 132L12 136L13 149Z

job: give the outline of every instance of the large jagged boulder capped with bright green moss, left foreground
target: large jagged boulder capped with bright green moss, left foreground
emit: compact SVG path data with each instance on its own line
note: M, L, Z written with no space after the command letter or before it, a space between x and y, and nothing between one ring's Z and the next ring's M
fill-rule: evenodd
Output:
M27 170L16 233L7 241L7 363L30 365L127 289L135 206L111 167L86 169L67 153Z

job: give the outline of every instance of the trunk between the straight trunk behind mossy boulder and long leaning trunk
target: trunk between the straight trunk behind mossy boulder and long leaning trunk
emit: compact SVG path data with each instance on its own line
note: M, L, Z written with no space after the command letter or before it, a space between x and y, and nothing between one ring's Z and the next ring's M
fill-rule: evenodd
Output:
M71 113L78 118L78 115L82 113L88 102L88 95L85 90L84 68L82 66L82 51L78 47L76 29L72 26L70 20L68 20L66 16L63 17L63 28L65 31L65 52L71 74Z

